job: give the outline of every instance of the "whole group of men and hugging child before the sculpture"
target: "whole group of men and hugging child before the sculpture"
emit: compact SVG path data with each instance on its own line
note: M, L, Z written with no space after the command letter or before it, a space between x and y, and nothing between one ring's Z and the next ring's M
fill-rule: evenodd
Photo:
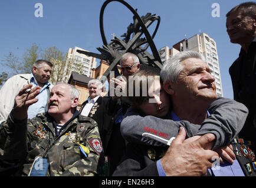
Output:
M255 176L256 4L226 16L231 43L241 45L229 68L234 100L218 98L204 56L193 51L170 58L160 74L125 53L115 89L127 90L129 76L160 80L147 83L146 96L117 97L101 96L92 79L79 110L74 86L48 82L47 60L9 78L0 90L0 175Z

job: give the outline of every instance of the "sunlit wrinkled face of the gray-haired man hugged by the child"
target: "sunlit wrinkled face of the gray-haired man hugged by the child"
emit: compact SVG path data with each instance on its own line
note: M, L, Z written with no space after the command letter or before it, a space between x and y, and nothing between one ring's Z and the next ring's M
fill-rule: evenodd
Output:
M185 66L176 82L173 83L175 95L180 100L206 99L213 102L216 95L215 78L211 75L209 66L197 58L188 58L182 62Z

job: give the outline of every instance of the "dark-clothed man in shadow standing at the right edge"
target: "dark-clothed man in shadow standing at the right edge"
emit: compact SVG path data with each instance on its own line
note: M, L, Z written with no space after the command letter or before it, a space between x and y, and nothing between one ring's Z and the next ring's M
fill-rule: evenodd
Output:
M251 141L250 147L256 150L256 3L239 4L226 16L230 42L241 46L239 57L229 68L234 100L249 110L239 136Z

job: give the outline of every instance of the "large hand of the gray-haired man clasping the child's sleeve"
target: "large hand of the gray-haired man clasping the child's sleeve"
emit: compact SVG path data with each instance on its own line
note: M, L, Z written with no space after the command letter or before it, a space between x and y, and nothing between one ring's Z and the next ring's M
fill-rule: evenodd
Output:
M163 169L167 176L202 176L212 167L212 159L218 153L205 149L215 140L211 133L200 136L196 140L186 139L183 127L172 145L161 159ZM211 162L212 161L212 162Z

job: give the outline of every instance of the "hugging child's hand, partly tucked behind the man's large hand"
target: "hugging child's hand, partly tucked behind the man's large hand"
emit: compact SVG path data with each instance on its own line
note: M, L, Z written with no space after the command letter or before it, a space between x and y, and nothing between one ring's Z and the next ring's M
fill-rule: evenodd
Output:
M225 147L220 147L218 149L215 149L215 152L221 156L220 161L221 163L224 163L223 159L227 160L229 163L234 163L234 160L236 159L235 153L233 152L232 145L228 145Z

